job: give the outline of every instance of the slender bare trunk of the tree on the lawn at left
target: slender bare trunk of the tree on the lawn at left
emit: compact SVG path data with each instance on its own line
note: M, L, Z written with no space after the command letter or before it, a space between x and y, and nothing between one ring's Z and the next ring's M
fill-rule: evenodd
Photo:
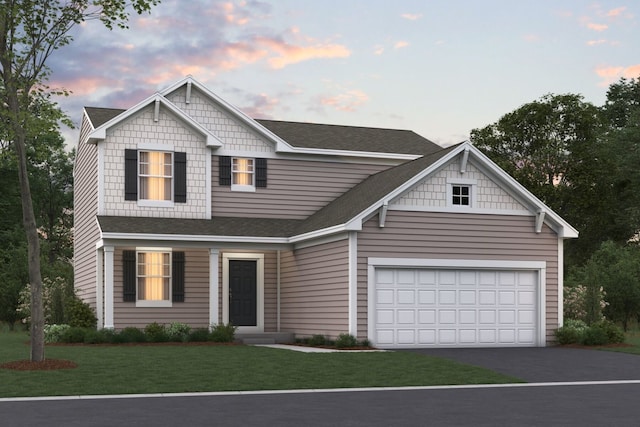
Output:
M16 112L14 114L14 117L19 117ZM31 187L29 186L29 173L27 171L26 132L19 124L19 121L16 120L16 122L13 146L18 157L22 221L27 236L29 283L31 285L31 361L42 362L44 360L44 305L42 301L42 275L40 273L40 240L35 214L33 213L33 201L31 200Z

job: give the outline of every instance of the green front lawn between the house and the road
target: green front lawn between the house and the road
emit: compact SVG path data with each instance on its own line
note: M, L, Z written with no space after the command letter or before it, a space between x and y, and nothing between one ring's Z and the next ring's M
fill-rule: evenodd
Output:
M29 358L0 333L0 364ZM520 380L409 352L301 353L253 346L47 346L75 369L0 369L0 397L496 384Z

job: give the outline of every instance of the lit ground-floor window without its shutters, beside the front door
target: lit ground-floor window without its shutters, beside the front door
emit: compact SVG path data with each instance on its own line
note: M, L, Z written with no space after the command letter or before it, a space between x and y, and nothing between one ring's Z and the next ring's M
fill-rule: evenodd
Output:
M138 252L138 301L171 299L171 253Z

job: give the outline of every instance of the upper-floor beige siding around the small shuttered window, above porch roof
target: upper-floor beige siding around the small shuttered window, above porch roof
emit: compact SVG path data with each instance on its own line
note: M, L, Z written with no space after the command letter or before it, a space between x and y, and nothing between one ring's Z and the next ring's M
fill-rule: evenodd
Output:
M218 157L212 158L213 216L304 219L367 176L388 166L268 159L267 188L255 193L218 184Z

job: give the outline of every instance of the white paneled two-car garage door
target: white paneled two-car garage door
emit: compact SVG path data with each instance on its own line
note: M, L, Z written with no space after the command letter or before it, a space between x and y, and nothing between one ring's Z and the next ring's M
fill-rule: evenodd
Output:
M538 272L375 269L382 348L536 346Z

